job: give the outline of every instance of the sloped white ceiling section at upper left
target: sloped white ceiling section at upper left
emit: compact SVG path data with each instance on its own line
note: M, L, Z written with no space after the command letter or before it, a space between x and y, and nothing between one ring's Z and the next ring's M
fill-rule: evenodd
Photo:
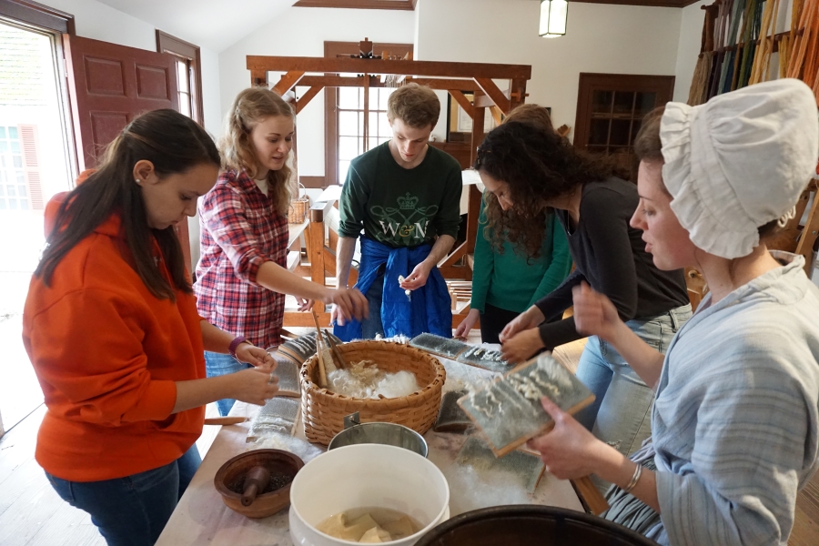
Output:
M159 30L216 53L297 0L98 0Z

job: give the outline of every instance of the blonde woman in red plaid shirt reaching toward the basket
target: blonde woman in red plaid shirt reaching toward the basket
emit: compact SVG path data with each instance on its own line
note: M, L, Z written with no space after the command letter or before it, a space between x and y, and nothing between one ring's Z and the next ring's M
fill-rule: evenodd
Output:
M356 289L331 289L287 269L290 169L296 116L280 96L263 87L238 94L227 114L219 148L223 171L199 201L201 257L194 285L199 314L257 347L281 343L285 294L299 310L319 299L343 319L367 315ZM207 377L248 367L228 355L207 352ZM227 415L235 399L218 402Z

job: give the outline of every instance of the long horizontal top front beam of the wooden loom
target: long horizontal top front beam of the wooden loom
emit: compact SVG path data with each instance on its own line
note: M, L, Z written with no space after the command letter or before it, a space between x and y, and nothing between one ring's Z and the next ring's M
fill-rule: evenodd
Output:
M529 65L490 63L449 63L442 61L402 61L387 59L327 58L248 55L253 72L330 72L349 74L397 74L405 76L480 77L495 79L531 78Z

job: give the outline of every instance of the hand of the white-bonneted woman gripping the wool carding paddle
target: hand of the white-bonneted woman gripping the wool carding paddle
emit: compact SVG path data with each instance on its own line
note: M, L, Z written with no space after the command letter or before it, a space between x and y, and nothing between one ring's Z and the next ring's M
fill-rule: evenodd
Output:
M600 469L602 453L613 448L597 440L577 420L546 397L541 399L543 410L554 420L554 429L527 446L541 454L546 470L559 480L588 476Z

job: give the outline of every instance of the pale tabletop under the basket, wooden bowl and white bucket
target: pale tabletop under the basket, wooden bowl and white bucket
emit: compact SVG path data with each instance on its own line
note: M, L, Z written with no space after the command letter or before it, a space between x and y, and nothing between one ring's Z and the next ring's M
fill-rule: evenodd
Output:
M478 369L440 359L447 369L447 387L457 387L467 377L483 375ZM445 387L445 389L447 389ZM252 417L258 406L237 402L230 415ZM249 422L225 426L219 431L202 466L197 470L177 509L167 522L157 541L158 546L208 544L211 546L292 546L288 509L261 520L251 520L231 511L222 502L213 485L219 467L228 459L248 450L245 442ZM303 428L297 423L298 437L304 438ZM430 460L440 468L448 466L458 455L468 437L460 434L438 433L430 430L424 439L430 447ZM320 447L320 446L319 446ZM537 490L531 497L534 504L559 506L582 511L581 502L568 480L558 480L548 472L543 474ZM452 514L457 515L457 514Z

